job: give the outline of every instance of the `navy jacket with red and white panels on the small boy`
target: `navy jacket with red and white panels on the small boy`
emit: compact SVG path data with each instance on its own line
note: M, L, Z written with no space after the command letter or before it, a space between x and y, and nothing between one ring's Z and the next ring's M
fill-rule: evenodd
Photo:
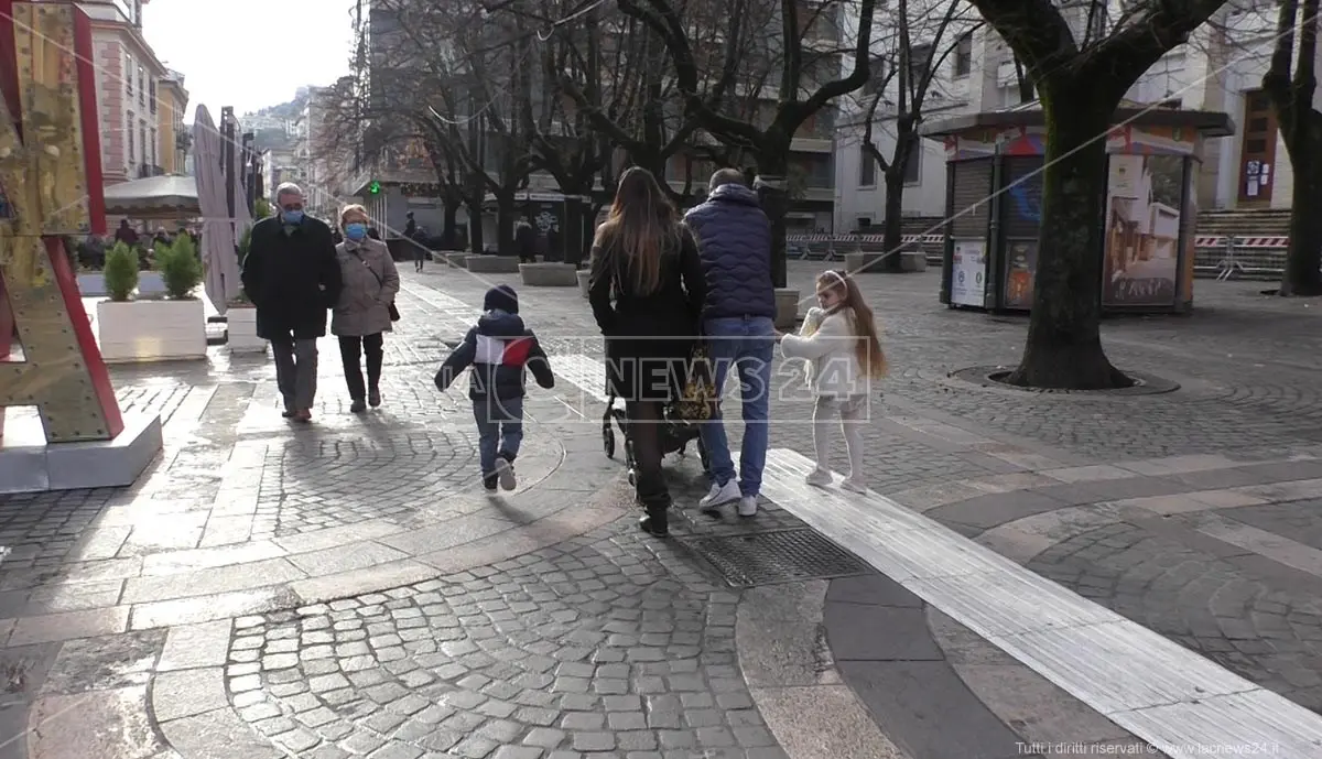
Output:
M468 381L468 397L473 401L522 398L526 393L525 369L533 373L542 387L555 386L551 362L542 350L542 344L531 329L524 327L524 320L517 313L484 313L440 365L436 387L446 390L469 366L473 370Z

